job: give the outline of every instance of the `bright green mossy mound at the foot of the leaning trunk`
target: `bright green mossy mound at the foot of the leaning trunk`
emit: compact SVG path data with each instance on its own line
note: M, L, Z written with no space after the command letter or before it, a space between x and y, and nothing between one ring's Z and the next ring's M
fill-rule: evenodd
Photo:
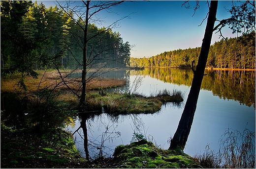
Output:
M146 140L119 145L114 152L116 168L199 168L192 157L181 152L162 150Z

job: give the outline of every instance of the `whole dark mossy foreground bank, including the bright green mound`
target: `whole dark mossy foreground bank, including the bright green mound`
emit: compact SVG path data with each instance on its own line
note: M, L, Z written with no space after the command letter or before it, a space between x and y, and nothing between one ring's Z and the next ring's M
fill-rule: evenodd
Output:
M12 130L1 125L1 168L200 168L183 152L162 150L139 140L116 147L113 158L82 158L62 129L44 134L35 128Z

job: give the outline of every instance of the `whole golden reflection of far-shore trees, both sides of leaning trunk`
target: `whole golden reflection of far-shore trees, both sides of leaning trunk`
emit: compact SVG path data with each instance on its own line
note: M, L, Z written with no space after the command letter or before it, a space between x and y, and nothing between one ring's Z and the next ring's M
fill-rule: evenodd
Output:
M164 82L186 86L192 84L193 78L191 70L171 68L145 68L140 73ZM203 78L202 89L212 91L220 98L234 99L255 108L255 71L205 70L205 73L207 75Z

